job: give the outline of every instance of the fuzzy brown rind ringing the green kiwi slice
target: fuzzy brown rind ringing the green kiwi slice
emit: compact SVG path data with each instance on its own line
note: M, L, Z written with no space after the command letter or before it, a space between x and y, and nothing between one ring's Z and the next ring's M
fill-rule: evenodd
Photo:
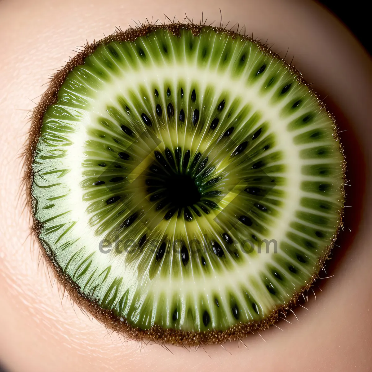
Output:
M29 139L28 139L28 143L26 144L26 148L24 152L24 157L25 157L24 183L26 186L27 203L28 203L29 209L31 210L31 214L32 214L32 206L33 206L33 196L31 192L31 186L33 183L32 164L35 158L35 149L36 149L36 145L39 140L43 117L44 117L44 114L48 106L53 105L57 101L58 90L64 83L67 75L73 70L73 68L78 65L84 64L84 59L90 54L92 54L97 49L97 47L99 47L99 45L106 45L112 41L122 41L122 42L134 41L139 36L147 35L148 33L153 32L154 30L157 30L157 29L166 29L175 36L179 35L180 29L188 29L192 31L193 35L198 36L201 29L204 27L209 27L209 26L197 25L192 22L190 23L179 23L178 22L178 23L170 23L169 25L153 25L153 24L140 25L136 28L129 28L124 32L118 29L112 35L104 39L101 39L98 42L93 41L92 44L85 45L81 52L79 52L75 57L73 57L61 70L59 70L56 74L54 74L51 81L49 82L48 89L42 95L39 104L33 110L31 128L29 130ZM327 110L323 101L319 99L317 94L305 82L305 80L302 78L301 73L298 70L296 70L295 67L289 65L282 58L280 58L279 55L272 52L269 48L266 47L266 45L261 44L257 40L253 40L248 36L243 36L243 35L240 35L239 33L236 33L231 30L224 29L224 28L220 28L220 27L211 27L211 28L217 33L219 32L227 33L232 38L240 38L241 40L249 40L251 42L254 42L264 54L271 55L283 61L285 67L289 71L291 71L292 74L296 75L296 80L300 84L307 86L309 92L317 98L318 104L321 107L321 109L327 112L328 116L333 121L333 128L334 128L333 137L340 144L340 138L337 133L337 126L336 126L336 121L334 117ZM344 155L341 144L339 147L340 147L341 154ZM345 179L345 171L346 171L345 160L343 161L343 164L342 164L342 171L343 171L343 181L345 183L345 180L346 180ZM341 192L342 192L343 201L344 201L345 199L344 185L342 185ZM290 299L290 301L288 301L286 304L280 305L275 310L273 310L272 313L267 318L261 321L258 321L258 322L237 323L236 325L234 325L233 327L225 331L214 330L214 331L204 331L204 332L185 332L182 330L175 330L175 329L163 329L157 325L154 325L153 327L147 330L142 330L141 328L133 328L131 325L128 324L128 322L124 318L122 318L124 319L124 321L121 321L120 318L116 317L113 314L113 311L105 310L99 307L99 305L96 302L92 301L92 299L88 298L81 291L80 287L76 283L73 282L70 276L68 276L62 271L61 267L55 260L54 256L47 253L47 252L50 252L50 250L45 250L45 247L43 246L41 241L38 239L39 232L41 231L42 225L41 225L41 222L39 222L33 214L32 214L33 226L31 229L32 229L33 234L38 239L38 242L42 248L45 261L54 270L58 282L67 290L68 294L71 296L73 301L80 308L92 314L94 318L96 318L98 321L104 324L107 328L110 328L113 331L116 331L122 334L123 336L125 336L126 338L132 339L132 340L154 341L157 343L171 343L171 344L179 345L179 346L185 346L185 343L186 343L187 345L193 346L193 345L198 345L198 344L218 344L218 343L222 344L228 340L233 341L233 340L246 337L248 333L253 333L255 330L264 330L266 328L269 328L270 325L274 324L278 320L280 312L286 313L291 308L294 308L296 306L299 296L301 296L301 294L304 291L307 291L308 289L310 289L314 280L318 278L319 272L322 269L325 263L325 260L327 259L331 249L333 248L334 242L336 241L337 233L340 227L342 227L343 212L344 212L344 207L342 205L339 211L340 224L337 227L336 233L333 239L330 241L329 245L327 246L324 256L320 257L320 260L317 264L317 268L315 269L315 272L312 275L311 279L302 287L301 291L299 291L298 293L295 293L294 296Z

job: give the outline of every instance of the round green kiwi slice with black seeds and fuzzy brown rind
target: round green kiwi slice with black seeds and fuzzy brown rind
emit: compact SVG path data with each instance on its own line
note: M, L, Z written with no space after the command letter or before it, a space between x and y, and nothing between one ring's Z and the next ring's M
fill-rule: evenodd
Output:
M28 147L34 230L78 304L131 337L220 343L274 323L341 224L330 113L264 45L131 28L52 79Z

